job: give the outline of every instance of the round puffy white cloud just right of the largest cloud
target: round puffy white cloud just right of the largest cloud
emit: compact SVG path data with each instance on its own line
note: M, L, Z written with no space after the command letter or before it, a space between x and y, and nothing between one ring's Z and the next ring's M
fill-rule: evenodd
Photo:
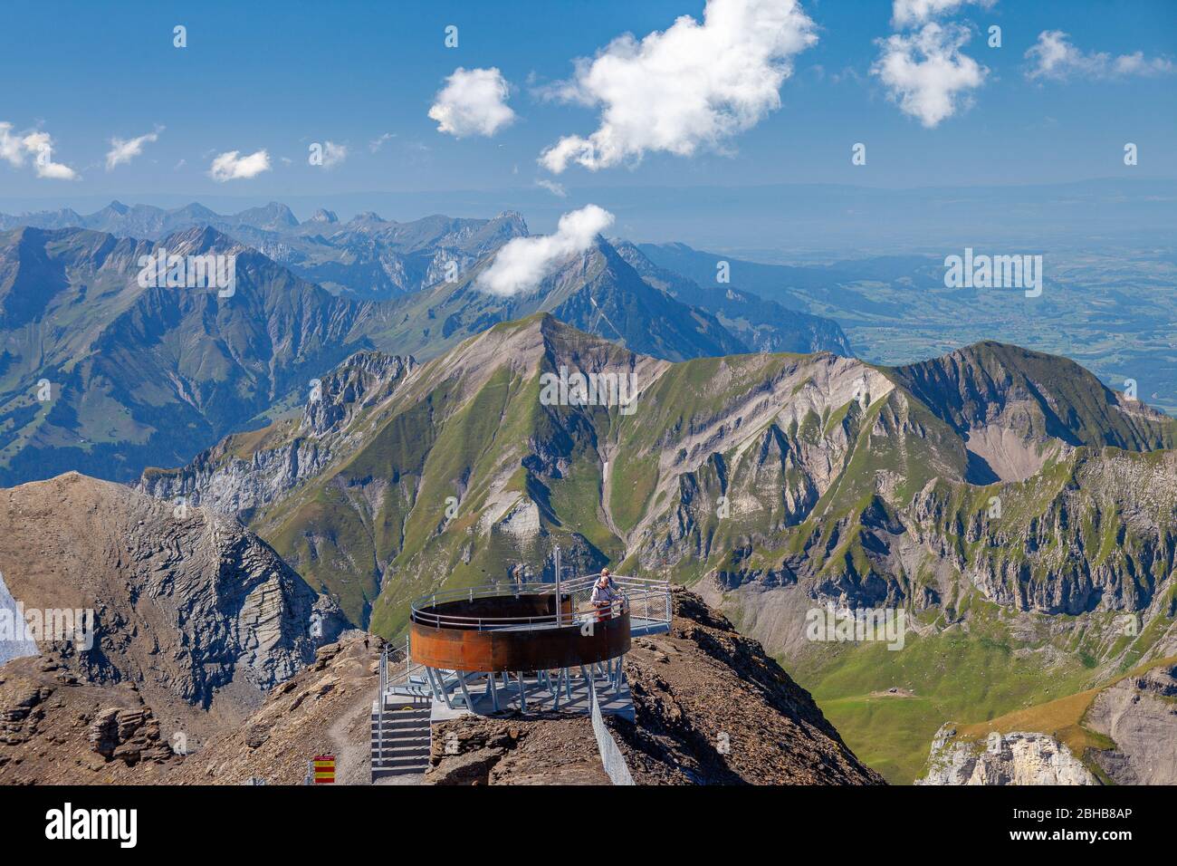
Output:
M926 24L911 35L879 40L883 53L871 67L887 95L925 127L938 126L970 104L969 91L985 82L989 70L960 48L971 38L967 27Z

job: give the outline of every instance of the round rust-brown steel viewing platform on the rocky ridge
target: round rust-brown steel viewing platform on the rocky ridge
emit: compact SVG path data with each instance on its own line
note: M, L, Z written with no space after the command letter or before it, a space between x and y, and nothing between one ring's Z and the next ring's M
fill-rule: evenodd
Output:
M428 668L458 672L550 670L594 665L630 649L631 600L587 603L592 579L484 586L438 593L412 604L408 653Z

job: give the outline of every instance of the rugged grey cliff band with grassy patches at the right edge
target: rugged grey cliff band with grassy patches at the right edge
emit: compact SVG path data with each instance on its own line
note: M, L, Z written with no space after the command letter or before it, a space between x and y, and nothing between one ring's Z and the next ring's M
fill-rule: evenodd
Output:
M1079 448L1020 483L935 483L912 534L989 600L1018 610L1173 615L1177 452ZM1159 602L1159 604L1155 604Z

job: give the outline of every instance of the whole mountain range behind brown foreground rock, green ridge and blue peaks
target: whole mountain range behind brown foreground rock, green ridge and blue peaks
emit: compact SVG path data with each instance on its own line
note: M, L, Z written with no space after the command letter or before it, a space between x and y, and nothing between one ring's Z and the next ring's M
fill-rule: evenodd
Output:
M186 226L192 209L107 211L86 219L175 231L0 233L0 484L81 470L237 517L391 640L411 597L551 579L559 544L578 573L691 586L889 781L1025 778L1064 749L1069 779L1161 778L1124 731L1156 723L1131 707L1168 694L1155 669L1177 655L1175 422L1010 343L852 357L825 313L878 339L939 291L935 263L598 237L504 297L479 277L526 236L512 214L339 226L271 206L226 233ZM363 238L368 275L417 276L357 289L341 250ZM334 263L330 285L275 260L280 239ZM234 292L140 285L161 250L235 257ZM956 300L956 318L988 303ZM633 398L553 392L576 376ZM825 610L902 613L903 650L814 639ZM1060 701L1093 715L1045 729ZM990 721L1013 758L977 760Z

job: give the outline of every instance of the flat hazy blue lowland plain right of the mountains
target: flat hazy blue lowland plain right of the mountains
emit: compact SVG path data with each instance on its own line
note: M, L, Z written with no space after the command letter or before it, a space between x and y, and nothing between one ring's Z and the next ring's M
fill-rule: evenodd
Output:
M997 339L1073 358L1105 384L1135 386L1142 398L1177 414L1177 252L1171 244L1093 240L1082 251L978 250L1044 252L1036 297L1020 287L946 286L944 257L962 254L964 244L939 257L873 256L827 266L749 262L683 244L639 249L656 265L707 289L723 287L716 284L717 263L726 262L732 289L837 320L856 353L872 362L905 364Z

